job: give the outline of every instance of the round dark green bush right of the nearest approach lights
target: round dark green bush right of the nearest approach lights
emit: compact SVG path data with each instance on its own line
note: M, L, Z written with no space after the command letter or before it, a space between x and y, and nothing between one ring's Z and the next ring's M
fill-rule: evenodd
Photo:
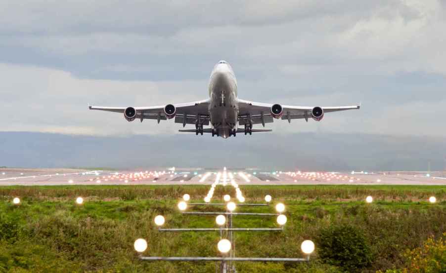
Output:
M350 225L321 229L317 237L317 253L324 262L349 272L371 264L371 250L362 231Z

